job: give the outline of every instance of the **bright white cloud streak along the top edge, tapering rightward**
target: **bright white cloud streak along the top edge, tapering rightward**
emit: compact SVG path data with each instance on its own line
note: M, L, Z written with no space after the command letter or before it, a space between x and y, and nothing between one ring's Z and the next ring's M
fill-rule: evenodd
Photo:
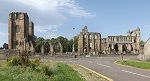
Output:
M13 0L41 11L67 13L77 17L94 16L79 6L75 0Z

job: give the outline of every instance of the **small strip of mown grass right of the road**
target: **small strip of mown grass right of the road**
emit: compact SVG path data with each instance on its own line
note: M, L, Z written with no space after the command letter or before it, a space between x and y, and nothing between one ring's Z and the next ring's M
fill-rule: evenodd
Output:
M123 60L123 61L117 61L117 63L122 64L122 65L136 67L136 68L141 68L141 69L150 69L150 63L144 62L144 61Z

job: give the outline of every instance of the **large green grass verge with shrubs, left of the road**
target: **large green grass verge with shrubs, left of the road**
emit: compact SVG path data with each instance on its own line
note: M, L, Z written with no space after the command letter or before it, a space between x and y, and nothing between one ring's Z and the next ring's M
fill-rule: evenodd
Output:
M47 64L48 65L48 64ZM0 66L0 81L84 81L77 71L63 63L26 66Z

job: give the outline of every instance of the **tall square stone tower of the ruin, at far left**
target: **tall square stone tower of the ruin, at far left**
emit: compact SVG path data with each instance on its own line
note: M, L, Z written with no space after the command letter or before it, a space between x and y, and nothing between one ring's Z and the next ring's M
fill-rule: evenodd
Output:
M34 24L27 13L12 12L8 19L8 47L20 51L33 51Z

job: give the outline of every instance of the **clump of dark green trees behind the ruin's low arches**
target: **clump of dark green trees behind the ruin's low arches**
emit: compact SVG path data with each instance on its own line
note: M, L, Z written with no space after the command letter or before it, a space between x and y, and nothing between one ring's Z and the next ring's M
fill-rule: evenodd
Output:
M46 40L43 37L37 38L35 44L35 51L37 53L41 52L41 47L45 44L45 42L51 43L54 52L60 52L61 50L60 44L62 45L63 52L72 52L73 39L68 40L63 36L59 36L57 38L46 39ZM75 51L78 51L78 36L74 37L74 44L75 44L74 45ZM48 44L46 46L49 47Z

